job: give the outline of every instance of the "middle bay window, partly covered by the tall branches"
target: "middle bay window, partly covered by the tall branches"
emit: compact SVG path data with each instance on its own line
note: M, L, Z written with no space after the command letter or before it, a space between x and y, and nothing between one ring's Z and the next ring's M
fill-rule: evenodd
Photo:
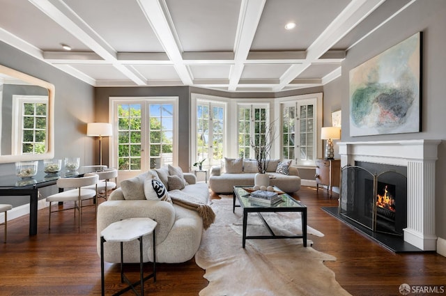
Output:
M266 139L268 104L238 104L238 156L255 158L251 143Z

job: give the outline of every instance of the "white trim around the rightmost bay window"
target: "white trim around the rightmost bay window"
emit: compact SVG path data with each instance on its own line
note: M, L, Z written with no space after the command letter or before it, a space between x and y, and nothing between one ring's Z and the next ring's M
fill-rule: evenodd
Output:
M307 104L307 103L314 103L316 107L316 147L315 147L315 154L316 157L314 161L316 161L317 158L321 158L323 155L323 145L321 141L321 127L323 125L322 123L322 116L323 116L323 93L310 93L306 95L293 95L290 97L283 97L283 98L277 98L275 99L275 118L280 118L280 112L281 112L281 104L284 102L299 102L300 104ZM280 123L282 126L282 123ZM279 135L281 137L281 134ZM297 140L297 139L296 139ZM281 146L282 146L282 137L279 139L279 141L275 141L275 150L278 151L277 157L280 157L281 153ZM299 168L302 169L308 169L315 166L315 162L308 162L305 164L298 164Z

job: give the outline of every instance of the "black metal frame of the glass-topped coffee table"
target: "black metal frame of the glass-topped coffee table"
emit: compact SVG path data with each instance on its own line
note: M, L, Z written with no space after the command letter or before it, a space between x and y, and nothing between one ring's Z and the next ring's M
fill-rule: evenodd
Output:
M239 199L238 202L240 205L236 205L236 196ZM291 196L288 198L293 199ZM233 192L233 204L232 204L232 212L236 211L236 207L243 208L243 237L242 237L242 247L245 249L245 242L246 240L277 240L277 239L284 239L284 238L302 238L303 240L303 246L307 247L307 207L302 208L272 208L272 207L256 207L256 208L245 208L242 206L242 202L240 201L240 196L236 193L236 190L234 189ZM265 224L266 228L268 228L268 231L270 235L246 235L247 231L247 219L248 219L248 213L249 212L256 212L259 214L259 217L261 217L263 224ZM275 233L272 231L266 220L261 215L261 212L301 212L301 219L302 219L302 235L275 235Z

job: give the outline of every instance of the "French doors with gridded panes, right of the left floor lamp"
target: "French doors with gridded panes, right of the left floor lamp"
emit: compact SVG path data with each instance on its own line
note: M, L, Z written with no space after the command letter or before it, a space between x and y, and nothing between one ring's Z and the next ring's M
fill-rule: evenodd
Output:
M111 99L112 166L121 178L178 164L178 98Z

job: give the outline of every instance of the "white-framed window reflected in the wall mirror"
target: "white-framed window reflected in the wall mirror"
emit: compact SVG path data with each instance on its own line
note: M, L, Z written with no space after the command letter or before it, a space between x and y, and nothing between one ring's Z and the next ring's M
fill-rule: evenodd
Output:
M13 95L13 114L13 154L46 153L48 97Z

